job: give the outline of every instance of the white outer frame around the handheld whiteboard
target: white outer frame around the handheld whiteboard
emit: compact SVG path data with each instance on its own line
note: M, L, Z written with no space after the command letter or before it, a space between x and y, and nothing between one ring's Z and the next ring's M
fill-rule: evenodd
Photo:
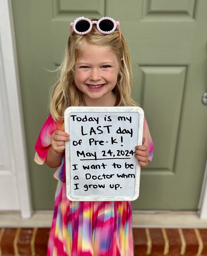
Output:
M137 144L142 145L143 125L144 125L144 111L138 106L120 106L120 107L87 107L87 106L71 106L64 112L65 132L70 133L70 113L72 112L137 112L139 113L138 137ZM136 146L135 145L135 146ZM65 156L66 156L66 195L71 201L133 201L139 196L139 180L140 180L140 165L136 161L135 169L135 193L134 196L129 197L73 197L71 196L71 171L70 171L70 141L65 142Z

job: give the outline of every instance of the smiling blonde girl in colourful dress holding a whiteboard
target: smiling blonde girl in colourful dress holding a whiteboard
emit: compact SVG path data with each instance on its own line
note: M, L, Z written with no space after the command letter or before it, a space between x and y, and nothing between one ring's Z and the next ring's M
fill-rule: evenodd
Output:
M116 28L119 22L79 17L74 25L60 79L51 93L50 114L35 145L36 163L59 166L47 256L133 256L131 201L79 202L66 197L65 141L70 135L64 132L64 110L77 104L137 105L130 97L131 59L120 27ZM144 144L135 145L141 168L152 161L154 148L145 119L143 129Z

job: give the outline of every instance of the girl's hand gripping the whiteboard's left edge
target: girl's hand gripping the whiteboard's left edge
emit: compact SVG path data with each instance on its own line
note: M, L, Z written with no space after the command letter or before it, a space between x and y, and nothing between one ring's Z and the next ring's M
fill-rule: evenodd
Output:
M65 141L69 141L70 137L67 132L57 130L51 136L51 145L53 150L57 153L63 153L65 151Z

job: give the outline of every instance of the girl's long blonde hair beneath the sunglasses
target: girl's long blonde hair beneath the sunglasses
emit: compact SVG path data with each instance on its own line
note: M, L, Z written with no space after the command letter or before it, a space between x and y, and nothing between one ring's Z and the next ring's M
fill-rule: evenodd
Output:
M112 90L117 99L115 106L122 106L123 104L138 106L130 97L132 88L131 58L122 34L121 39L122 41L118 28L113 33L105 35L97 30L96 24L93 24L92 31L86 35L72 32L72 40L69 36L64 59L60 67L55 70L60 69L60 78L50 93L50 113L54 120L63 120L64 111L69 106L75 106L78 103L85 105L83 93L74 82L74 66L79 53L84 49L84 40L89 44L109 46L117 57L119 63L117 84Z

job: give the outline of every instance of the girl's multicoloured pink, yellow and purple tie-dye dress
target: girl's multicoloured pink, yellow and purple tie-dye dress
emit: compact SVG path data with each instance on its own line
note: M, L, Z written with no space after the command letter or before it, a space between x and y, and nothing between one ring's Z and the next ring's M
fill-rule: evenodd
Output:
M34 160L43 164L51 135L64 130L64 121L55 122L51 114L35 145ZM153 157L153 142L144 118L144 145ZM136 145L135 145L136 146ZM66 197L65 156L54 177L58 179L55 208L47 256L133 256L132 201L70 201Z

